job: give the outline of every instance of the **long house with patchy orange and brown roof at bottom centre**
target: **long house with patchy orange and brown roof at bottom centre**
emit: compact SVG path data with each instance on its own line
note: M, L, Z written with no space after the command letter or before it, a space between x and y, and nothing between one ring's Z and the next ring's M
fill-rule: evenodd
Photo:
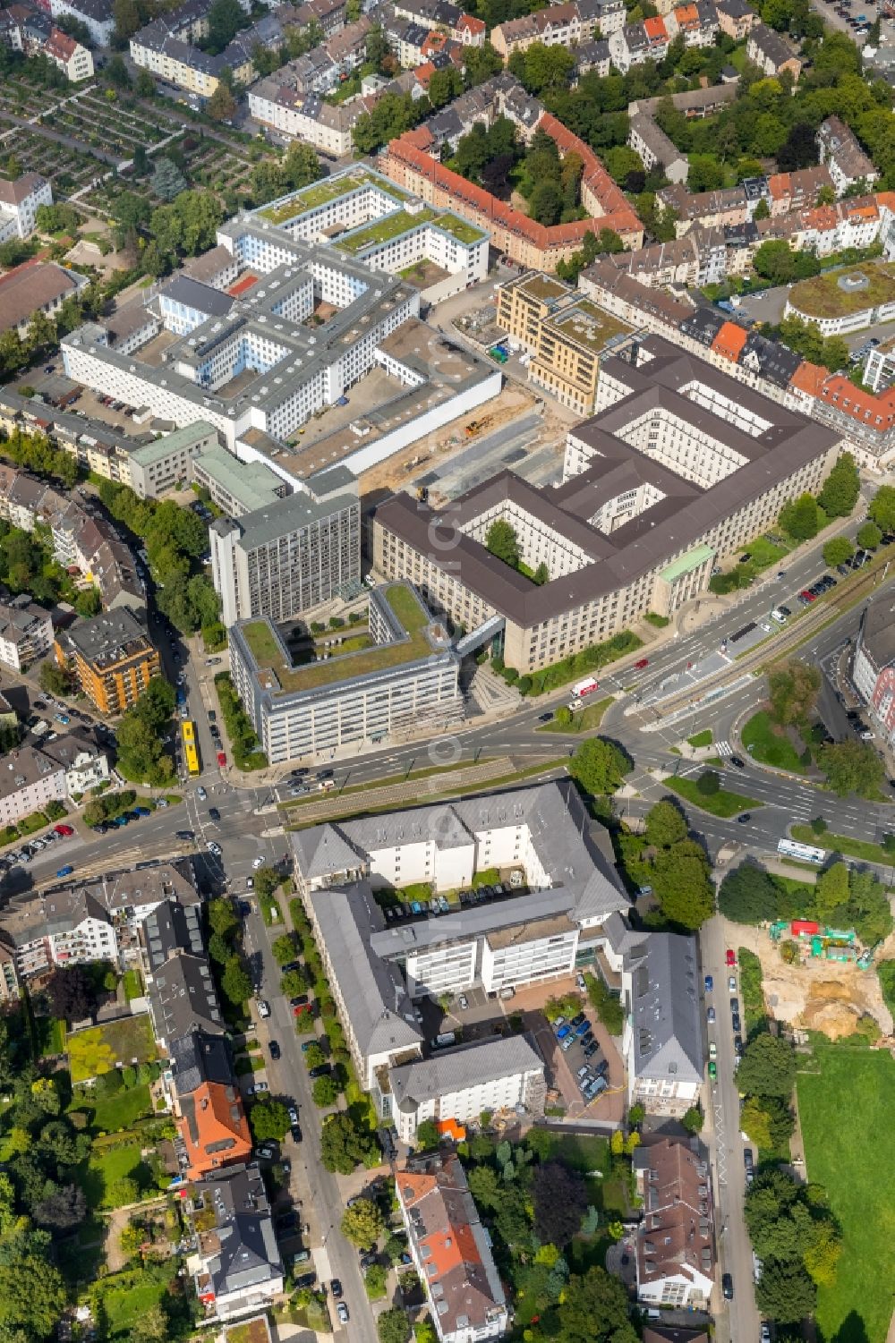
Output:
M413 1158L396 1172L395 1194L441 1343L501 1338L507 1296L458 1158Z

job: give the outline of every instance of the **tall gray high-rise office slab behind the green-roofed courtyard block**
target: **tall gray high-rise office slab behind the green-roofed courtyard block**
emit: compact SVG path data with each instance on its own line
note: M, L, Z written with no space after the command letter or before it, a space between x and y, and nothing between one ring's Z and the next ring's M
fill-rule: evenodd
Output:
M320 494L309 483L238 521L212 524L211 572L226 626L257 615L292 620L360 577L360 501L347 475L329 471Z

